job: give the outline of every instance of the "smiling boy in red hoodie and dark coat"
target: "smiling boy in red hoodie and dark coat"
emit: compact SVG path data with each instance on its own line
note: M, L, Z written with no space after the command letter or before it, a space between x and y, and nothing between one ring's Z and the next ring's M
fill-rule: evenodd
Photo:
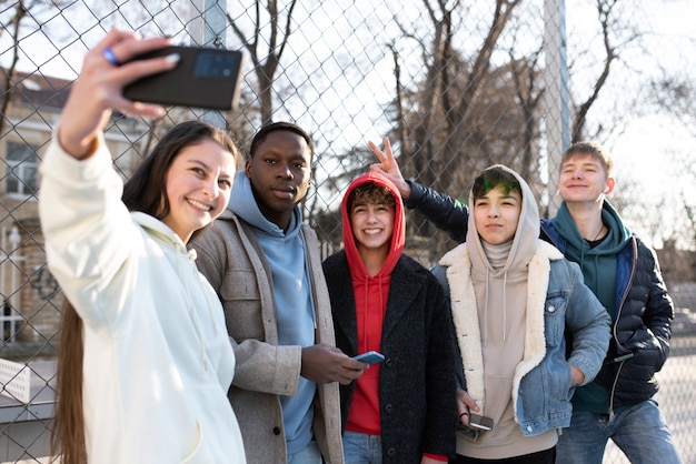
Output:
M340 386L346 463L447 462L455 451L451 312L432 274L402 254L401 196L368 173L341 203L344 246L324 262L337 346L382 363Z

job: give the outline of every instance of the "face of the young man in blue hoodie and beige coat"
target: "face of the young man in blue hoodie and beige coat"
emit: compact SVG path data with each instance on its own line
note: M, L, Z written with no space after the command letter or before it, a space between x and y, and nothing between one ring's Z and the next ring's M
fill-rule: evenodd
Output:
M289 130L268 133L247 161L246 173L264 216L287 230L311 176L311 150L305 138Z

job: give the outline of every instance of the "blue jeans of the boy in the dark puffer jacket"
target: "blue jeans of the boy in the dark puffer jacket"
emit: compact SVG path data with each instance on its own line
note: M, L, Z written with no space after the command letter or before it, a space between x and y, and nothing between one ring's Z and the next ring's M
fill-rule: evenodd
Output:
M612 438L632 464L678 464L672 434L657 403L649 400L608 414L573 412L570 427L564 428L557 445L557 464L601 464L604 448Z

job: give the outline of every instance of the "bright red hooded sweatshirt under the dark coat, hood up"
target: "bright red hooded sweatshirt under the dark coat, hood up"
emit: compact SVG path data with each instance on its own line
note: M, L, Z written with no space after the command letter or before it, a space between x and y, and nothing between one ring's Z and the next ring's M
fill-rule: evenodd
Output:
M350 212L348 211L348 196L358 185L375 183L389 189L396 200L394 230L389 253L381 269L376 275L367 272L358 248L356 245ZM358 353L375 350L380 351L381 326L387 312L387 297L391 272L401 258L405 243L406 216L404 203L397 188L385 176L370 172L354 180L348 186L341 203L344 224L344 246L352 279L352 291L356 301L356 320L358 326ZM380 435L379 418L379 364L372 364L356 381L356 389L350 403L348 423L346 428L352 432L369 435Z

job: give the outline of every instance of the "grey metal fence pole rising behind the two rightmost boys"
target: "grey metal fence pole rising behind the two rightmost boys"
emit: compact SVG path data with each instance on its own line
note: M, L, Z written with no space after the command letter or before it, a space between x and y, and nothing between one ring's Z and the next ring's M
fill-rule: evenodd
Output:
M560 157L570 145L568 109L568 63L566 57L565 0L544 1L544 82L546 82L546 150L549 185L548 214L558 211L556 195Z

